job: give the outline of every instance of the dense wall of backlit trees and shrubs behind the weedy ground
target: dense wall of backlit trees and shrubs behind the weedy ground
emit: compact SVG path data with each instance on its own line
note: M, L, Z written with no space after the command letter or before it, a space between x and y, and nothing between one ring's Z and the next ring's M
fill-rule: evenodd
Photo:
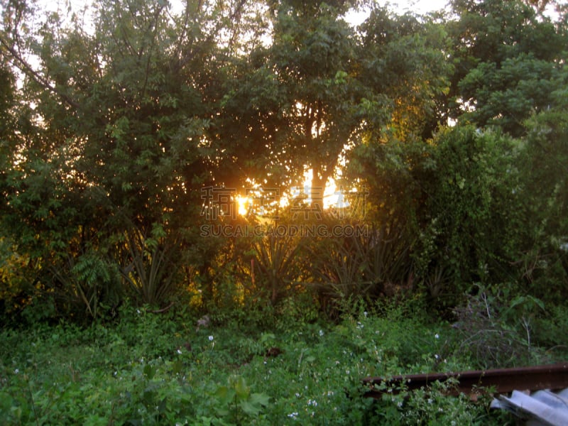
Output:
M34 300L54 316L93 318L126 298L161 308L207 290L205 306L263 285L271 295L290 283L326 288L346 275L317 268L354 247L371 262L393 229L409 266L388 285L415 283L431 297L476 281L566 288L560 4L455 0L427 16L356 1L2 9L1 268L14 253L26 259L22 273L2 275L6 310ZM358 27L346 20L356 10L368 13ZM323 212L323 188L342 180L368 190L368 214L350 219L382 231L332 244L332 261L319 263L325 244L304 239L283 249L200 236L212 191L231 205L247 188L283 195L310 169L312 206ZM215 208L224 224L261 221ZM349 283L378 285L371 263ZM381 280L368 294L387 291Z

